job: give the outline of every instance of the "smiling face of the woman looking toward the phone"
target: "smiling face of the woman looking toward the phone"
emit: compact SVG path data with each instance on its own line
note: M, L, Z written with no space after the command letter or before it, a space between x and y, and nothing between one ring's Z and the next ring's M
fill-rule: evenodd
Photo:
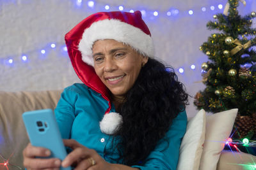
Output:
M148 60L131 46L113 39L96 41L92 51L95 72L115 97L124 97Z

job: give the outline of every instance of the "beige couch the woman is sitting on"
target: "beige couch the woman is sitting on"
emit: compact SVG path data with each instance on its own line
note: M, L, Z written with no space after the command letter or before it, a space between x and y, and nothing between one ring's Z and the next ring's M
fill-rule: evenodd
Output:
M0 92L1 170L7 169L6 166L8 166L10 170L24 168L22 166L22 150L28 144L29 139L22 122L22 113L24 113L24 111L45 108L54 109L60 99L61 91L62 90L41 92ZM216 169L248 169L248 167L237 165L253 164L255 161L256 157L248 153L228 152L223 150L220 153Z

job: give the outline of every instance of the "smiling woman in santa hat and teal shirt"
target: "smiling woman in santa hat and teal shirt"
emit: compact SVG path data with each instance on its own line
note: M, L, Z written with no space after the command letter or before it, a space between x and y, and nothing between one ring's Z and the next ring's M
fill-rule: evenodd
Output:
M61 162L30 144L28 169L176 169L186 131L188 94L177 76L153 59L140 11L100 12L65 36L82 83L61 94L55 115L70 153Z

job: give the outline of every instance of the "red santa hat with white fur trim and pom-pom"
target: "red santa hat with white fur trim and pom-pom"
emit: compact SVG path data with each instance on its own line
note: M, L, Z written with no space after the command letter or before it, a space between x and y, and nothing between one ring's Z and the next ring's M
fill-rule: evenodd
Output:
M95 13L85 18L65 36L68 55L79 78L109 101L109 108L100 122L100 130L113 134L122 124L122 116L109 113L111 103L108 89L93 69L92 46L99 39L115 39L147 57L154 57L154 46L140 11Z

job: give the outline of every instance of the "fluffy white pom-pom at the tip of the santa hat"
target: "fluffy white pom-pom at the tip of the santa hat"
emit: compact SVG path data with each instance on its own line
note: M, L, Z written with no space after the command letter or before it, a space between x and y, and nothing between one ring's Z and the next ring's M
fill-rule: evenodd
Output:
M100 130L104 134L114 134L123 122L119 113L106 113L100 122Z

